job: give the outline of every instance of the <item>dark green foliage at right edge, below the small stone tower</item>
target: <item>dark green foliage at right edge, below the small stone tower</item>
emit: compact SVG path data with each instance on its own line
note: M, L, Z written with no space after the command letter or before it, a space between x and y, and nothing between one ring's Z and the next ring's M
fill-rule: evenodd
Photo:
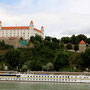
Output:
M86 68L90 69L90 48L87 49L84 53L80 53L76 56L73 64L77 69L85 71Z

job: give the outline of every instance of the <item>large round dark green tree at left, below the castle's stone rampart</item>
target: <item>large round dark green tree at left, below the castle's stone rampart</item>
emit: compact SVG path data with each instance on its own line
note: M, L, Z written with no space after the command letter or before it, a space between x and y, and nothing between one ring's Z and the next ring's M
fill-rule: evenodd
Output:
M9 50L5 54L5 59L11 70L15 70L17 68L20 70L24 63L24 54L18 49Z

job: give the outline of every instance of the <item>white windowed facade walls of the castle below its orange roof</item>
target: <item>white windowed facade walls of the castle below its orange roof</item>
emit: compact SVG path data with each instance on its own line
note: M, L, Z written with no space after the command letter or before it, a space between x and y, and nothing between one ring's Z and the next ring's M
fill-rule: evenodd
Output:
M24 39L30 39L31 36L35 36L36 34L41 35L43 37L43 33L40 33L35 30L0 30L0 37L23 37Z

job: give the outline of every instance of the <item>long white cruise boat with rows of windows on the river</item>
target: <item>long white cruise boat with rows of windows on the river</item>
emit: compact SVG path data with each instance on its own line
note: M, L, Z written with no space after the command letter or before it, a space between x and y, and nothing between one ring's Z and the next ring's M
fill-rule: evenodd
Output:
M87 73L0 74L0 81L90 83Z

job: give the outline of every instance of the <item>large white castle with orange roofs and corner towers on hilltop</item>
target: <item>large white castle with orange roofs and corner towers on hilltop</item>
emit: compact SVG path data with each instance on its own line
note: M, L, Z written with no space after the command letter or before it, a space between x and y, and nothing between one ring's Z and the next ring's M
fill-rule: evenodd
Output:
M41 27L41 30L34 28L33 21L30 22L29 26L10 26L3 27L2 22L0 21L0 37L1 38L24 38L30 39L31 36L40 35L44 37L44 27Z

